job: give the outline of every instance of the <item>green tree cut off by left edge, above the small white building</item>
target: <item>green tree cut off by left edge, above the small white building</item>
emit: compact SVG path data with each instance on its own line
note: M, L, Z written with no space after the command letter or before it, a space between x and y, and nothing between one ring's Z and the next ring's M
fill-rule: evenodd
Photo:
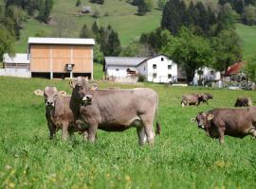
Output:
M15 38L11 35L9 30L0 25L0 60L3 60L4 53L14 54Z

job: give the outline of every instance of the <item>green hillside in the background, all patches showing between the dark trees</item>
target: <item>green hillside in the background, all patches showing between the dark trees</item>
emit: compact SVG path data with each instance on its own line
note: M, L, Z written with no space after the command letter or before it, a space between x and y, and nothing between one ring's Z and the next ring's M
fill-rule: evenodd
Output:
M189 3L189 0L186 2ZM209 5L213 4L213 6L216 3L216 1L210 0L204 0L204 2ZM0 0L1 4L3 4L3 0ZM33 18L28 19L23 25L24 29L21 30L21 39L16 44L16 52L27 51L27 38L29 36L54 36L56 30L54 29L55 20L58 18L66 20L67 37L78 37L82 25L91 26L96 21L91 14L80 14L82 6L90 6L92 12L99 10L99 24L101 26L113 26L119 32L122 45L137 39L142 32L149 32L160 26L162 13L159 9L153 9L145 16L137 16L137 7L124 0L105 0L104 5L92 4L89 0L82 0L82 5L79 8L75 4L76 0L55 1L51 13L52 22L48 25L39 23ZM256 50L256 26L237 24L236 31L242 39L244 60L248 60L249 57L255 54L253 52Z

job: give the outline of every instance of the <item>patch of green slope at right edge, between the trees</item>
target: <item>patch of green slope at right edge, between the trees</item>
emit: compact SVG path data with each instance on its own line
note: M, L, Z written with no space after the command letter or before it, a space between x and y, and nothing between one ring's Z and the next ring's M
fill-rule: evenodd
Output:
M244 60L255 57L256 53L256 26L236 25L236 31L242 39Z

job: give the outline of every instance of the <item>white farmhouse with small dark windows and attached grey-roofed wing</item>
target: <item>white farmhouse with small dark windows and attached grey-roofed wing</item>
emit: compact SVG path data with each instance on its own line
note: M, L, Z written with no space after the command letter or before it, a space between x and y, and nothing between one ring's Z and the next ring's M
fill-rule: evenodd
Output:
M107 78L123 82L137 79L138 75L157 83L177 80L176 63L164 55L152 58L105 57L104 71Z

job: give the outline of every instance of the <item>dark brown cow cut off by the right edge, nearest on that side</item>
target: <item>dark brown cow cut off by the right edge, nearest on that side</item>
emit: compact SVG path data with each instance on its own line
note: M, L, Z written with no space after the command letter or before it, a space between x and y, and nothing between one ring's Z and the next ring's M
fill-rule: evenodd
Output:
M192 121L196 121L198 128L204 129L210 137L218 138L220 144L224 143L224 135L256 137L256 107L199 112Z

